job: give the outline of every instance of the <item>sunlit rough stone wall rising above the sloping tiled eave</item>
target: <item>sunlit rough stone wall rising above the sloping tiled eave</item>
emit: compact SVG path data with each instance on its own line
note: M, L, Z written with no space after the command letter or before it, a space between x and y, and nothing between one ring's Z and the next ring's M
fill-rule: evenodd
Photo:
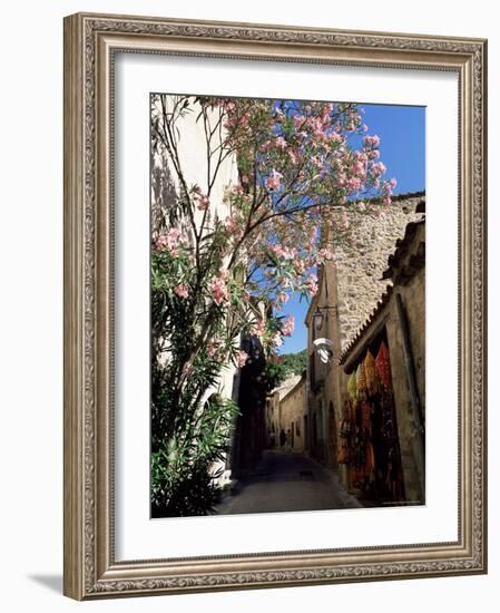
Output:
M356 214L350 245L337 251L337 304L341 351L376 306L389 281L382 280L388 257L415 213L423 193L395 196L380 217Z

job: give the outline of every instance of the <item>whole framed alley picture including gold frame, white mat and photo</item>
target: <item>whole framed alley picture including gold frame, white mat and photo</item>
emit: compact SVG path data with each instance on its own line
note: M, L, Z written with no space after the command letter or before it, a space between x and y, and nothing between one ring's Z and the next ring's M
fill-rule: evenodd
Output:
M65 19L65 594L487 572L470 38Z

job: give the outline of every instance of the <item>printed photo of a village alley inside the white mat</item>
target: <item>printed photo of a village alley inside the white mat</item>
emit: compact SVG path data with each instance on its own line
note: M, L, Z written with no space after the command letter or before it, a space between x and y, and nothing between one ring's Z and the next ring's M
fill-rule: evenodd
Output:
M425 504L425 113L404 189L364 111L153 95L153 517Z

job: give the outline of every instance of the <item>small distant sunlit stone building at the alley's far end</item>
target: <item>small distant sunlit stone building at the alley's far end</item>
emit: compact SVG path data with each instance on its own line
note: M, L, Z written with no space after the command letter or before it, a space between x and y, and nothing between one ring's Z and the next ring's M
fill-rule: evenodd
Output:
M287 448L292 451L305 450L307 430L307 396L305 390L305 371L297 382L280 400L280 427L287 437Z

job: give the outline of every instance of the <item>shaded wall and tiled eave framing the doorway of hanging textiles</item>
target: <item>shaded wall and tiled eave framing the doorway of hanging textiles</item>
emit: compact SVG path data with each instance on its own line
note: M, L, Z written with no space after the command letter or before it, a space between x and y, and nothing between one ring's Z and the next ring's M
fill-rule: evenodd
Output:
M347 379L357 368L371 347L375 354L376 339L385 331L391 361L392 391L395 424L401 454L404 499L409 504L425 502L425 224L416 224L408 232L392 259L393 291L388 295L370 323L357 334L337 368L337 405L347 398ZM394 251L394 250L393 250ZM423 257L423 259L422 259ZM419 261L420 260L420 261ZM400 303L400 308L398 306ZM403 324L405 320L406 325ZM404 329L408 329L408 337ZM408 360L405 338L409 341L411 360ZM412 364L412 366L411 366ZM414 382L412 392L410 379ZM341 474L342 483L349 485L347 475Z

